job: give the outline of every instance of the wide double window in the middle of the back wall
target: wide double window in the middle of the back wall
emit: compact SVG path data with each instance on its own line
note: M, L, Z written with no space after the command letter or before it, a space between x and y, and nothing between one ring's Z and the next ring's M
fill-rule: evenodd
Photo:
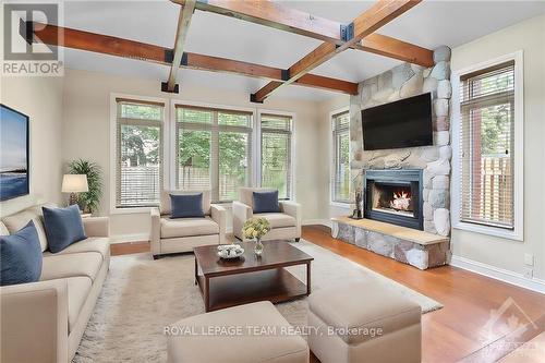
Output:
M175 184L210 189L213 202L231 202L252 176L252 113L175 107Z

